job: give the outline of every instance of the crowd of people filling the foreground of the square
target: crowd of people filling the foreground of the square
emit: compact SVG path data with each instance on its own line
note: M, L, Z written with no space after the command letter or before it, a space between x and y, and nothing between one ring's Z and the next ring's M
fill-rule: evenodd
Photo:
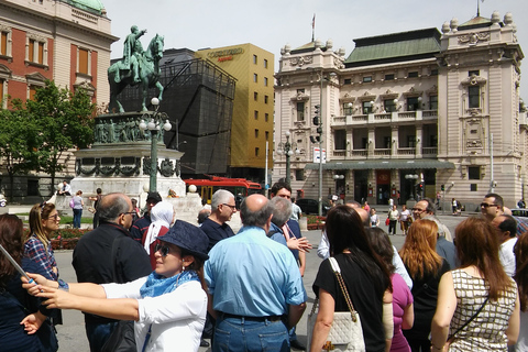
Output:
M244 198L240 209L233 194L218 190L199 226L176 220L157 193L135 221L128 196L98 189L94 200L98 226L73 253L77 283L59 278L51 237L61 217L53 204L31 209L25 238L16 216L0 216L0 244L32 280L0 256L0 336L9 337L2 349L57 351L61 309L77 309L90 351L124 343L127 329L136 351L306 350L296 324L306 309L302 277L312 245L301 235L288 184L273 185L271 199ZM366 351L528 351L528 232L519 233L496 194L454 237L435 210L427 198L410 210L393 206L388 231L370 206L349 202L328 212L309 351L328 346L334 312L349 311L350 301ZM243 227L234 233L229 221L238 211ZM388 235L397 222L406 235L399 252Z

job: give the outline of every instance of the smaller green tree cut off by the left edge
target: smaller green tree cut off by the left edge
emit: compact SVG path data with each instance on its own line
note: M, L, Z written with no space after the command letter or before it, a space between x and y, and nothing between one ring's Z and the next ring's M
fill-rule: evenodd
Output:
M20 101L15 101L20 107ZM13 200L14 176L38 168L35 151L38 146L38 128L24 110L0 110L0 157L9 175L10 194Z

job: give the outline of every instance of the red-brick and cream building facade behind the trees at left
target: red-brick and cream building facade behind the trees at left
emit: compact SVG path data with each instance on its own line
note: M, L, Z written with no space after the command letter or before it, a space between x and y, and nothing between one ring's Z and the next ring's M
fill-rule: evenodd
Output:
M108 103L107 69L111 35L110 19L99 0L4 0L0 2L0 97L32 99L45 79L58 87L82 87L97 103ZM8 99L9 98L9 99ZM75 157L65 156L67 169L59 177L74 177ZM46 184L47 182L47 184ZM15 200L47 197L46 175L16 179ZM7 183L2 183L2 190Z

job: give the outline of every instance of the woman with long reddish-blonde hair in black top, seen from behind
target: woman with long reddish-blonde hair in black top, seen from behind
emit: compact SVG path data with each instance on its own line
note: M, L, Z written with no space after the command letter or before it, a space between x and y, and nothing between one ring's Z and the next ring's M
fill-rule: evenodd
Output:
M431 348L429 333L437 309L438 285L449 271L448 262L436 252L438 226L432 220L416 220L409 227L399 256L413 279L415 323L404 330L413 352L426 352Z

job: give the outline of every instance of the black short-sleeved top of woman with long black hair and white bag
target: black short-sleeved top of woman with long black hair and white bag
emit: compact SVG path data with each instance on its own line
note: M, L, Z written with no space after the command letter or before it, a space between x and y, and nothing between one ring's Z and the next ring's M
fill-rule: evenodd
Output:
M360 314L366 351L385 351L385 334L383 333L383 295L385 289L377 288L369 273L363 271L358 263L345 258L345 255L348 254L338 254L334 257L341 268L341 275L352 299L352 305ZM374 261L372 261L372 265L373 267L376 266ZM383 275L381 270L380 275ZM319 272L314 282L314 292L318 297L319 288L323 288L332 295L336 300L336 311L349 311L349 306L328 258L319 266Z

